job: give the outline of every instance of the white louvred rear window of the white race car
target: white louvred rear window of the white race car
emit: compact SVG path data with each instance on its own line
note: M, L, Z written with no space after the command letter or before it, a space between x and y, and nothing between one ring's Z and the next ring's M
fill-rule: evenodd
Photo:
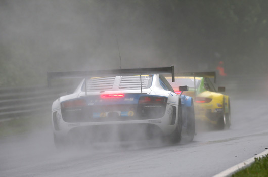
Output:
M113 76L113 77L92 77L86 80L86 91L112 91L112 90L135 90L147 89L152 84L152 75L137 76ZM85 91L85 84L82 86Z

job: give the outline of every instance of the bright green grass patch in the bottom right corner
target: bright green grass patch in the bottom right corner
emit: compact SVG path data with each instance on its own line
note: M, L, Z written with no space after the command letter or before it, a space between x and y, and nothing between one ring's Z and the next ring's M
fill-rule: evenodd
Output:
M255 162L249 167L238 171L232 177L264 177L268 176L268 154L262 158L255 158Z

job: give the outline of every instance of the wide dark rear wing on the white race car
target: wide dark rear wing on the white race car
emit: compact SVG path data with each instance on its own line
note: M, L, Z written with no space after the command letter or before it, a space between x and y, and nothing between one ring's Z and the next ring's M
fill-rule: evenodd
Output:
M171 74L172 82L175 81L174 66L161 68L137 68L137 69L113 69L98 71L66 71L66 72L48 72L48 87L51 86L51 79L54 78L88 78L101 76L117 75L145 75L145 74ZM86 79L85 79L86 80ZM142 87L142 86L141 86ZM141 88L142 90L142 88Z

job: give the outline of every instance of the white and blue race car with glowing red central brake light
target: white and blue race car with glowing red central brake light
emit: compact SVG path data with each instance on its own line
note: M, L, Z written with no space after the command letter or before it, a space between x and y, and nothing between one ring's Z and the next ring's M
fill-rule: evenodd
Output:
M55 145L144 137L179 142L184 106L166 73L174 78L174 67L49 72L49 85L53 78L83 77L74 93L53 102Z

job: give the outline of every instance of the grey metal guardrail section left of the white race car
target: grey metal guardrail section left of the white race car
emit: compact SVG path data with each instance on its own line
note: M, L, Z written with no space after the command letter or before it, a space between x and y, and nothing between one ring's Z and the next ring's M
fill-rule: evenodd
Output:
M66 87L10 87L0 89L0 120L48 112Z

